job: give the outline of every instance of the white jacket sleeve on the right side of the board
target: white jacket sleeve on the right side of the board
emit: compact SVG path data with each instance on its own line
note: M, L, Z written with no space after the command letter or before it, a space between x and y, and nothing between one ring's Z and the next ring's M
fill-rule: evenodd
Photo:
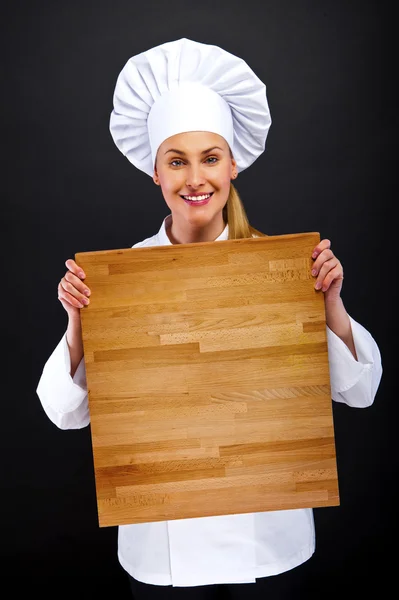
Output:
M355 408L366 408L373 404L381 381L381 354L372 335L352 317L350 320L358 360L327 327L332 399Z

